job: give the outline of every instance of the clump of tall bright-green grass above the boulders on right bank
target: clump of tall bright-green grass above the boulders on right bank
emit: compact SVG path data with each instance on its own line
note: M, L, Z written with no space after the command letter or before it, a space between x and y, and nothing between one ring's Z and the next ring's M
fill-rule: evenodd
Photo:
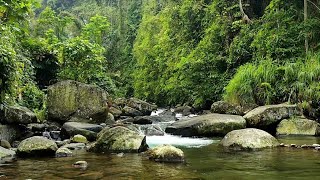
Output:
M284 65L272 60L246 64L226 86L224 99L239 105L319 101L320 54Z

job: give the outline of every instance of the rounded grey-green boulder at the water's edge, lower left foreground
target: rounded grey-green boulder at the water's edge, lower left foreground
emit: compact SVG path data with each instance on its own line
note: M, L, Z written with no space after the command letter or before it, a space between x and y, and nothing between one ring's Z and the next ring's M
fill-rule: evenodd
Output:
M54 141L42 136L33 136L21 141L17 154L19 156L53 156L56 150L58 146Z

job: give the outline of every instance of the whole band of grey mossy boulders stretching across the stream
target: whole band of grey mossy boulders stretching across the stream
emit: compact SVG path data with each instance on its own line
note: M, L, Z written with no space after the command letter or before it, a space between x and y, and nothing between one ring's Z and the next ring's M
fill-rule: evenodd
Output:
M130 98L112 100L93 85L63 81L48 88L48 120L39 122L25 107L2 105L0 158L73 156L74 150L96 153L144 153L157 162L183 162L171 146L150 150L147 136L224 137L227 149L249 150L283 145L276 135L319 134L319 123L306 119L297 105L243 108L216 102L211 111L194 114L179 106L151 116L157 106ZM297 146L301 148L313 145ZM306 149L308 149L306 148ZM313 147L319 149L319 147ZM159 154L157 154L159 153Z

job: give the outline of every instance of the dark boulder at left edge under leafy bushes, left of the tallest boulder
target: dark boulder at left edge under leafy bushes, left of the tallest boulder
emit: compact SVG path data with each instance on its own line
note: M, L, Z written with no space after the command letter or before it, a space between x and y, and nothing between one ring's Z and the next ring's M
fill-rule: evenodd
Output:
M6 124L30 124L37 122L37 117L34 112L22 106L3 106L2 118Z

